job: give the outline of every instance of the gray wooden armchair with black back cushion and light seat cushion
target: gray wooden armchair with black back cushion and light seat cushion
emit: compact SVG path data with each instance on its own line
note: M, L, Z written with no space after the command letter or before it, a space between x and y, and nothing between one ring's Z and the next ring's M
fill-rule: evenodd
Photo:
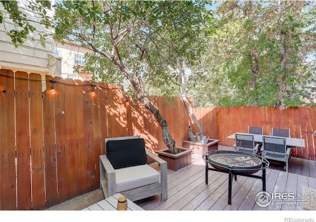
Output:
M100 155L100 182L105 198L116 193L131 201L157 194L167 200L167 162L145 149L140 136L105 139L106 155ZM147 164L147 156L160 165Z

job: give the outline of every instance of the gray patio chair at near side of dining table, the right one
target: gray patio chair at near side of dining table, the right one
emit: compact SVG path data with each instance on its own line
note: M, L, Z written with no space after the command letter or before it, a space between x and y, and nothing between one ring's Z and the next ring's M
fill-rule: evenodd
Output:
M286 147L286 138L263 136L262 157L270 160L285 162L285 170L288 172L291 148Z

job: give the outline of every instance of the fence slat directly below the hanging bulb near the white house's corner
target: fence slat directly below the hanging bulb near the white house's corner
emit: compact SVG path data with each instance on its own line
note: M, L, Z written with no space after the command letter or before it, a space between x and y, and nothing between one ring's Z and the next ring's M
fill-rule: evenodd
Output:
M57 166L56 166L56 141L55 141L55 118L54 97L51 94L52 76L46 75L46 91L43 95L43 135L45 153L45 187L46 208L58 204L57 196Z

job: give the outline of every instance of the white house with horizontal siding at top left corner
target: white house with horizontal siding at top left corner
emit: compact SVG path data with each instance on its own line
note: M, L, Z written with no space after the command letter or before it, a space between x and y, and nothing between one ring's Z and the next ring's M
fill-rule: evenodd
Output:
M33 11L30 11L27 7L27 1L18 1L19 7L23 9L26 14L32 15ZM54 4L54 1L52 1ZM4 11L2 4L0 4L0 11L3 13L5 19L0 24L0 69L8 69L13 72L22 71L28 74L38 73L41 74L42 79L45 79L45 75L60 76L61 75L61 58L55 56L54 46L55 42L53 38L46 39L45 47L42 47L37 40L38 34L52 33L53 29L47 29L40 23L33 22L32 25L36 27L34 33L30 32L28 39L25 40L23 45L18 45L16 48L11 41L11 38L6 35L6 30L13 29L13 23L7 19L9 16ZM48 11L47 14L53 17L53 11ZM32 18L40 22L40 17L32 16ZM42 89L46 88L46 84L43 81Z

